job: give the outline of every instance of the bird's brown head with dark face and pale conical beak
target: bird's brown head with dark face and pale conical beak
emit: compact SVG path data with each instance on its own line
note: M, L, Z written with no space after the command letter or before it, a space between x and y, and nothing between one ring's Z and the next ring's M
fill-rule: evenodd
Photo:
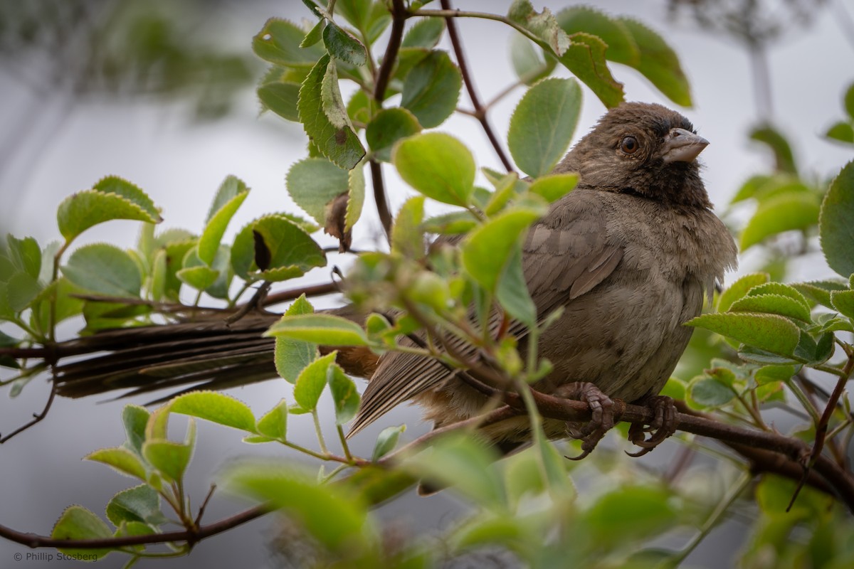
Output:
M591 189L709 207L697 155L709 142L680 113L657 104L612 108L559 166Z

